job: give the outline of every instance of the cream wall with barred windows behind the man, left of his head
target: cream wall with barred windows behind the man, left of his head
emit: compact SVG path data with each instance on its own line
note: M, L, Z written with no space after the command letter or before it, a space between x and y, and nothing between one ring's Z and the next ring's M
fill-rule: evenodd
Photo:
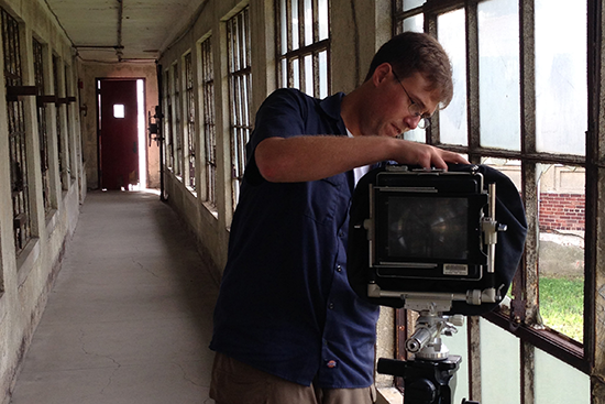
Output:
M219 271L256 109L279 87L318 97L355 88L391 37L391 7L388 0L208 1L194 26L163 54L167 199ZM384 310L382 356L394 354L393 321L393 313Z

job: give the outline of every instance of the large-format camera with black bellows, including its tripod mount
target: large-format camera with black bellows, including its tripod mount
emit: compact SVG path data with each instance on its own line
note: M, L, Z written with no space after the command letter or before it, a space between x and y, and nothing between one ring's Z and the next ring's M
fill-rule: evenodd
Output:
M392 165L360 181L351 206L349 281L366 301L419 313L406 341L415 360L378 361L378 372L404 378L406 404L451 403L449 381L461 358L449 354L441 335L454 332L461 315L501 303L526 232L517 188L488 166L443 172Z

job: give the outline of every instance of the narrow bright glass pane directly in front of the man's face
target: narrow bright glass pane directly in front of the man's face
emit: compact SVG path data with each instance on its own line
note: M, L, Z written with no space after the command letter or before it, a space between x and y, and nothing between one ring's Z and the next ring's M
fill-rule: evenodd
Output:
M466 40L464 10L439 15L439 42L450 55L453 68L454 96L449 107L439 112L439 133L442 143L468 145L466 131Z

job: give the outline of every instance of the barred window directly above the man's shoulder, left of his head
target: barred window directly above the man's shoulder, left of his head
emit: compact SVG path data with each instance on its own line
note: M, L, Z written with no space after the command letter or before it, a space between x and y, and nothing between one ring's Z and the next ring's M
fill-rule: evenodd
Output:
M320 10L323 7L324 10ZM320 11L329 15L329 3L319 0L276 0L279 87L294 87L317 98L330 91L330 37L320 36ZM329 18L327 32L329 29Z

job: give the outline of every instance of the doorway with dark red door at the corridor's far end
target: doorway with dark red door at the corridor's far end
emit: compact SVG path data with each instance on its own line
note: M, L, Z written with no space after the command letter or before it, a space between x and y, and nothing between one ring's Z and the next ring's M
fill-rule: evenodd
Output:
M100 188L145 188L144 80L97 79L97 95Z

